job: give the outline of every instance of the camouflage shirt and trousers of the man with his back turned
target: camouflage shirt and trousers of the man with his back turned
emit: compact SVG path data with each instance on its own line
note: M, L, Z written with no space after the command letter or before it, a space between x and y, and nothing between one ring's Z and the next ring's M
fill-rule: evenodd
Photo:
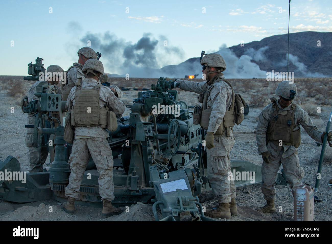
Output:
M83 88L93 89L98 83L95 79L85 78L81 83ZM67 100L69 111L75 105L76 87L72 88ZM99 105L106 105L115 114L122 114L125 106L115 94L106 86L102 86L99 92ZM100 174L98 178L99 194L102 200L112 201L114 199L113 184L113 157L112 150L106 140L108 132L98 126L76 126L75 138L72 151L69 157L71 173L69 184L65 189L66 197L77 199L84 171L91 156Z

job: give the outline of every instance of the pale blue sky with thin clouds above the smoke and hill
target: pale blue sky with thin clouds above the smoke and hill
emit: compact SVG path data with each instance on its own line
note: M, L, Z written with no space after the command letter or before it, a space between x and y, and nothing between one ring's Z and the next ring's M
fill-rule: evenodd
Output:
M102 37L109 32L128 43L136 43L150 33L151 38L159 40L160 48L166 37L168 46L177 47L181 55L157 55L157 66L178 64L199 56L201 50L216 51L221 45L287 33L288 3L288 0L3 1L0 75L26 75L27 64L37 56L45 59L45 67L57 64L66 70L77 61L77 50L84 46L82 38L88 33ZM292 0L290 32L331 32L331 7L329 0ZM106 66L105 71L116 73L117 67Z

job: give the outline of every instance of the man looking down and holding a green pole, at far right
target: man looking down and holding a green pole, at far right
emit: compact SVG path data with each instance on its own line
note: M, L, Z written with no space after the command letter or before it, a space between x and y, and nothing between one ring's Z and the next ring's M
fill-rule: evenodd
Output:
M262 193L267 204L256 210L276 212L276 189L274 182L280 165L283 165L286 180L289 182L292 193L302 184L304 170L300 166L297 148L300 145L300 125L308 135L322 142L326 132L321 132L312 122L308 113L299 105L292 103L297 94L297 88L290 81L282 81L276 95L279 99L271 98L271 104L266 106L257 124L256 139L258 153L262 155ZM293 114L293 115L292 115ZM287 117L288 116L288 117ZM292 133L292 135L291 135ZM328 133L328 140L332 133Z

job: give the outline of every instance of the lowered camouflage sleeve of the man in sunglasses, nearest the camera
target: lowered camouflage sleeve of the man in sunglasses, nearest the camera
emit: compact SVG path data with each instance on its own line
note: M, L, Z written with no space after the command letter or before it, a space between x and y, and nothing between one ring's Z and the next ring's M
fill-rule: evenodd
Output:
M210 97L212 99L212 111L207 132L215 133L220 124L222 123L222 119L224 118L226 113L227 96L227 89L225 87L211 89Z

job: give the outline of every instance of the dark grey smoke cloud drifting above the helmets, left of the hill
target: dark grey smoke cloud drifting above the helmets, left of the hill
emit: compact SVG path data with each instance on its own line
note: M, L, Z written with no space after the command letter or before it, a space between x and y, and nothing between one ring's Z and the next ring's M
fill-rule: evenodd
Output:
M80 39L82 45L91 41L91 47L102 53L101 61L105 71L130 77L159 77L158 69L183 58L183 50L178 47L165 46L166 37L159 40L150 33L144 33L136 43L125 41L109 32L103 35L88 33ZM174 62L174 60L173 60Z

